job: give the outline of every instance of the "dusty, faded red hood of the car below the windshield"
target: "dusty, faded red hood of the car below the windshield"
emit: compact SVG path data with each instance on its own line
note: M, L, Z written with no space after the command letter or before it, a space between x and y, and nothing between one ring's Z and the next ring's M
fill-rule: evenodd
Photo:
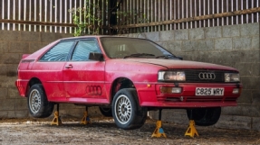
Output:
M212 63L188 61L188 60L176 60L176 59L124 59L126 61L147 63L152 65L158 65L169 69L219 69L219 70L236 70L236 68L226 67L222 65L216 65Z

